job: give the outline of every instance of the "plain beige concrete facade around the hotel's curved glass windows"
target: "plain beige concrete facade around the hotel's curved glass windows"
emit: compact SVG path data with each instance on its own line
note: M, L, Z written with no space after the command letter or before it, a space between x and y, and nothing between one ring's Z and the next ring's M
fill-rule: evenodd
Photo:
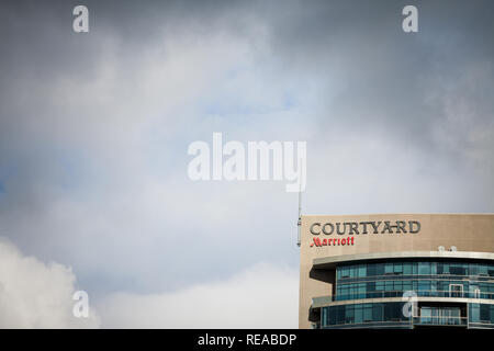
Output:
M323 231L326 223L330 223L324 227L327 234ZM311 228L316 235L311 233ZM337 229L344 234L338 234ZM316 245L314 238L321 240L321 246ZM446 250L454 246L458 251L494 252L494 214L305 215L302 216L300 239L299 327L310 328L312 298L332 295L334 285L329 276L324 276L324 272L321 274L312 270L314 259L378 252L438 251L440 246ZM323 245L324 239L326 245Z

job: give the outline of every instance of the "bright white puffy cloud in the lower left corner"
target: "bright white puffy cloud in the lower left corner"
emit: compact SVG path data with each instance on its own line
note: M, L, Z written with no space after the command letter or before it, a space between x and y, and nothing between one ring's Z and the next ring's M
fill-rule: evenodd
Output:
M0 238L0 328L98 328L93 310L72 315L75 281L69 268L25 257Z

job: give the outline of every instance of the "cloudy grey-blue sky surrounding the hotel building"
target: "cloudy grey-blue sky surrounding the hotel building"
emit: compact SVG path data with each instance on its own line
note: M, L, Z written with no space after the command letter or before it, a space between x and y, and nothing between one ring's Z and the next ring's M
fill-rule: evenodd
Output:
M297 193L192 181L215 132L305 141L304 214L493 213L493 10L2 1L0 327L296 328Z

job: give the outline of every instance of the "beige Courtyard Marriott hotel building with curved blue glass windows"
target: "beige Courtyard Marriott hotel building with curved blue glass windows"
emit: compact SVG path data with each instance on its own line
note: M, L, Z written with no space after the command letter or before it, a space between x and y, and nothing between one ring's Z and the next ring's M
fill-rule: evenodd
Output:
M302 216L300 328L494 328L494 214Z

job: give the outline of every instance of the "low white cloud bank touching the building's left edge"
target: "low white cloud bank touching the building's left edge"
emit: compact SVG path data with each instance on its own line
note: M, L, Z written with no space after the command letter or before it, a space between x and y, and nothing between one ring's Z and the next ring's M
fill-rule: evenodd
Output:
M299 273L256 264L172 293L117 293L98 304L104 328L297 328Z

